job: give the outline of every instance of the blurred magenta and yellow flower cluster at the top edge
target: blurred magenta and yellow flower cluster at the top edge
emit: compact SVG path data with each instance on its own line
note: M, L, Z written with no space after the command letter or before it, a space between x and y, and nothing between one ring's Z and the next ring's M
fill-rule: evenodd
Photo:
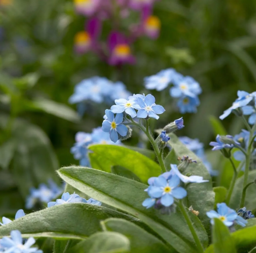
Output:
M85 54L93 51L108 64L120 66L124 63L134 64L131 45L140 36L156 39L159 36L161 22L152 15L155 0L74 0L76 12L87 17L85 30L75 36L75 51ZM130 12L139 12L136 24L130 24L128 31L119 32L122 20ZM102 22L108 20L111 31L107 41L100 41ZM120 22L121 21L121 22Z

